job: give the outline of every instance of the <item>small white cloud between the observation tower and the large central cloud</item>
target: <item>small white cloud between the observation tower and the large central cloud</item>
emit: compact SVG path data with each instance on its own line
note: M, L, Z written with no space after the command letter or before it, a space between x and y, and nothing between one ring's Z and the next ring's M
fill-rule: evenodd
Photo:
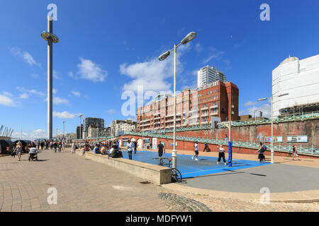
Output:
M79 75L83 79L87 79L93 82L103 82L106 76L108 76L108 72L101 69L101 66L94 63L89 59L83 59L80 57L81 63L77 65L79 68Z

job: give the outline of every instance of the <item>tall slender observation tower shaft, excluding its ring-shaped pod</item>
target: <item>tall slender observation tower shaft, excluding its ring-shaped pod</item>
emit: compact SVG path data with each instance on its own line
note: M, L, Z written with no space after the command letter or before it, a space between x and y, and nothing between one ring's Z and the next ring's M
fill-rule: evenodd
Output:
M53 33L52 17L47 17L47 32ZM52 40L47 40L47 138L52 140Z

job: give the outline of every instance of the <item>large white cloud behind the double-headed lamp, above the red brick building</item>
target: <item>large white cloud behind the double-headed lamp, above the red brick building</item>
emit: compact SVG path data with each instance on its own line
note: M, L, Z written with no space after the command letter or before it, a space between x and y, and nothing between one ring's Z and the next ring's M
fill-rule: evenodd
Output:
M183 71L183 64L180 61L184 52L191 48L190 43L181 45L177 54L177 72ZM133 80L123 85L123 90L138 91L138 85L142 85L144 92L147 91L168 91L171 83L165 81L174 74L174 56L169 56L164 61L159 61L157 57L138 62L135 64L121 64L120 73L129 76Z

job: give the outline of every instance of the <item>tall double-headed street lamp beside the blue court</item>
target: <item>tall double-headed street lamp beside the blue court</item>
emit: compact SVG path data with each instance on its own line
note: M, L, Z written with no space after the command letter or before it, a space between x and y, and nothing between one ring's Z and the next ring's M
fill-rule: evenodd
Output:
M186 44L188 42L191 42L191 40L194 40L196 37L196 32L189 32L183 40L179 44L174 44L174 49L171 49L167 52L164 52L164 54L160 55L158 57L159 61L164 61L169 54L174 50L174 136L173 136L173 150L172 150L172 167L177 167L177 150L176 150L176 75L177 75L177 47L179 47L181 44Z

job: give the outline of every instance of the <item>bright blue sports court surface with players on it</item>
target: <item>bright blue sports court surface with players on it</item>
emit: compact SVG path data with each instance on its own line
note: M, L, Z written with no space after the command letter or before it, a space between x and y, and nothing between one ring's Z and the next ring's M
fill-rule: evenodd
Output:
M123 153L123 157L128 159L128 151L121 151ZM157 152L137 151L136 154L134 154L133 151L132 156L132 160L158 165L158 160L153 160L153 157L158 157ZM191 160L192 156L193 155L179 155L177 153L177 169L179 169L181 172L181 177L183 178L199 177L208 174L229 172L236 169L246 169L250 167L259 167L271 164L267 162L259 163L259 161L233 159L233 167L228 167L228 159L226 159L227 165L224 165L223 159L221 159L219 164L217 164L218 157L198 155L198 161L195 161ZM162 157L172 158L172 154L164 153ZM167 160L164 160L164 163L168 163Z

